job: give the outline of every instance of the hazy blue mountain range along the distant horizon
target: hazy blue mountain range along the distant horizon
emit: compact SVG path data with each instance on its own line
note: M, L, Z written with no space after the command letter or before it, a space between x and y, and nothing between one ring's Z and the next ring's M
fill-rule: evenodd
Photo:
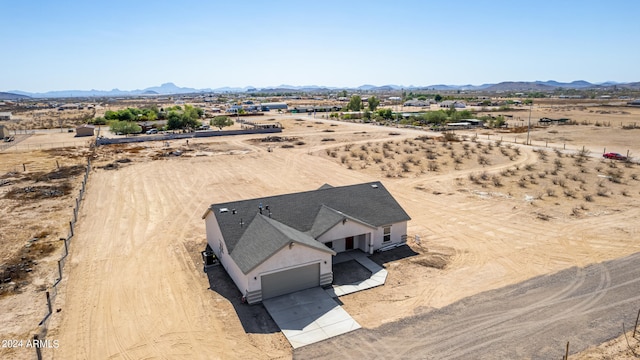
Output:
M570 83L563 83L554 80L549 81L506 81L498 84L482 85L429 85L429 86L400 86L400 85L361 85L356 88L327 87L317 85L293 86L279 85L274 87L256 88L253 86L240 87L220 87L195 89L190 87L180 87L174 83L164 83L160 86L152 86L142 90L58 90L44 93L30 93L20 90L10 90L0 92L0 100L19 100L25 98L69 98L69 97L119 97L119 96L144 96L144 95L174 95L174 94L197 94L197 93L241 93L241 92L330 92L335 90L355 90L355 91L394 91L394 90L433 90L433 91L486 91L486 92L508 92L508 91L553 91L556 89L606 89L616 86L618 88L630 88L640 90L640 82L617 83L608 81L593 84L588 81L578 80Z

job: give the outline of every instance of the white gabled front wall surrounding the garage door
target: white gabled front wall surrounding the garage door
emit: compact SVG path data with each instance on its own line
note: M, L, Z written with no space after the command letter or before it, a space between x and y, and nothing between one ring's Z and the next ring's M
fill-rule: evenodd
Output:
M332 256L331 253L300 243L294 243L291 247L285 246L247 274L248 285L246 290L260 290L262 287L260 277L262 275L304 265L320 263L320 275L331 273L333 271L331 266Z

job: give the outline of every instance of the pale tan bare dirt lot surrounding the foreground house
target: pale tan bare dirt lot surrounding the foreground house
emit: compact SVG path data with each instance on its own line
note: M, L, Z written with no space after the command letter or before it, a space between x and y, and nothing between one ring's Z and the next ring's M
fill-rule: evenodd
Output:
M600 156L604 147L640 154L633 141L640 130L615 125L640 122L634 110L609 114L615 115L611 126L535 128L533 147L522 146L522 133L512 141L496 131L460 132L445 141L438 133L310 117L278 118L285 131L277 138L101 147L54 304L60 312L48 324L47 339L59 347L45 349L45 358L294 356L262 306L241 304L220 268L203 272L201 215L211 203L381 180L412 217L410 251L378 255L389 271L384 286L340 298L372 336L402 324L421 326L412 319L478 294L573 268L572 279L574 267L635 254L640 166ZM534 117L544 111L534 108ZM578 121L581 114L593 116L589 111L567 110ZM565 143L572 151L552 148ZM585 151L578 151L582 146ZM8 164L10 153L0 156ZM16 172L21 161L3 171ZM58 211L63 232L71 211L51 214ZM35 235L12 240L13 252ZM35 306L41 313L3 312L3 338L34 330L45 310L42 292L35 291L22 302L42 298ZM16 296L0 299L0 306ZM621 346L622 329L602 331L601 341L572 348L575 358L633 356ZM638 341L630 341L637 348ZM380 357L398 356L391 348L374 350ZM27 349L4 354L33 357Z

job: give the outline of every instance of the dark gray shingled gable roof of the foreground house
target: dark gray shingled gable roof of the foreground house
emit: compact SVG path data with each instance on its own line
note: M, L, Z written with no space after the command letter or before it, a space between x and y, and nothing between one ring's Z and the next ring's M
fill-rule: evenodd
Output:
M371 228L410 220L380 182L213 204L203 217L209 211L245 274L290 242L334 253L315 239L345 219Z

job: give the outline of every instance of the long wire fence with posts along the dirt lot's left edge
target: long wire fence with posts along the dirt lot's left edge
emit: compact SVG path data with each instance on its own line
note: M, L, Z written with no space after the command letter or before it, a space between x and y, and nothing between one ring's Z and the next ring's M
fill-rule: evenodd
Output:
M67 256L69 255L69 244L71 243L71 239L73 239L73 236L74 236L75 226L76 226L76 223L78 222L78 213L80 211L80 205L82 204L82 200L84 199L84 194L87 189L87 181L89 180L90 172L91 172L91 159L87 159L84 178L82 180L82 187L80 188L78 196L76 197L76 204L75 204L75 207L73 208L73 217L69 220L69 233L67 234L66 238L63 238L64 253L58 260L58 277L55 280L55 282L52 284L50 290L47 291L45 294L46 300L47 300L47 310L44 317L40 321L40 323L38 323L38 330L36 334L33 335L33 340L35 344L46 342L45 338L47 335L49 319L53 314L52 304L55 301L56 295L58 294L58 285L62 281L62 271L64 269L64 264L66 262ZM41 353L40 347L34 346L34 348L36 350L37 358L39 360L42 359L42 353Z

